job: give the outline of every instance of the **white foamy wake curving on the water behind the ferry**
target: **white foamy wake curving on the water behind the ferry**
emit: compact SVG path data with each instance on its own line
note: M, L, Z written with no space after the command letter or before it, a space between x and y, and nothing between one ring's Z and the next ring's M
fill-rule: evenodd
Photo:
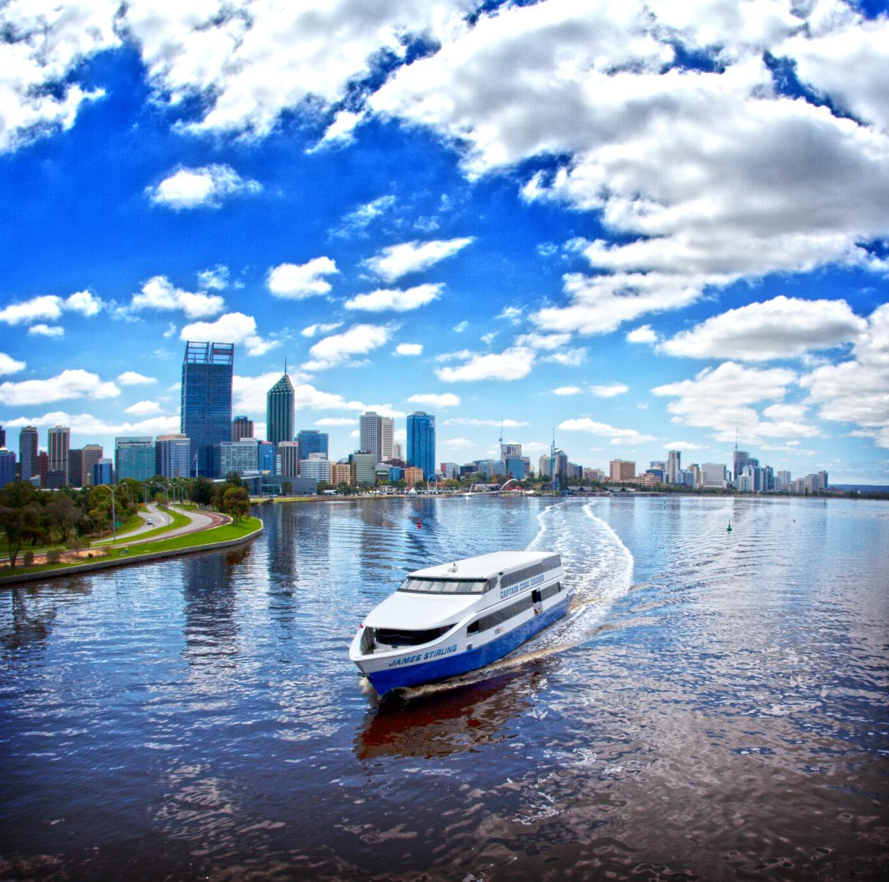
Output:
M540 530L526 548L562 555L565 584L572 591L565 618L486 668L441 683L396 690L399 698L412 700L479 683L529 661L569 650L596 634L611 604L632 585L633 555L611 526L594 514L594 506L592 501L581 505L573 500L548 506L538 515ZM368 688L372 686L368 684Z

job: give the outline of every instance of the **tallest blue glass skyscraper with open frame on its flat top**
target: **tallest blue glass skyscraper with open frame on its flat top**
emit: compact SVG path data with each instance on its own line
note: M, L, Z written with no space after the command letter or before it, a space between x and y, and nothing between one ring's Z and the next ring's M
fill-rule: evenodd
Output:
M187 343L182 362L180 433L191 441L190 470L212 476L212 446L231 438L235 344Z

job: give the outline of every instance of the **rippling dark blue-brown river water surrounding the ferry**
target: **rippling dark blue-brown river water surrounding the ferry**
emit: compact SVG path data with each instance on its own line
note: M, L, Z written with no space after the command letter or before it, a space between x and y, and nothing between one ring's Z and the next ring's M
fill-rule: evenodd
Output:
M257 512L235 552L4 589L0 878L886 878L889 504ZM376 700L362 615L509 548L562 554L569 615Z

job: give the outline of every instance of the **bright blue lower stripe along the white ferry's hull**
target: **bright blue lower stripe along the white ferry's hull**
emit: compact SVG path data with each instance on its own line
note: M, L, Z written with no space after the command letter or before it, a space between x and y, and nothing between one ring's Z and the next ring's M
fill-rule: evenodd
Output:
M565 600L550 607L546 612L541 612L539 616L534 616L524 625L520 625L490 643L485 643L484 646L479 646L478 649L460 652L444 659L409 665L405 668L374 671L372 674L368 674L367 678L380 695L385 695L390 689L397 689L400 686L432 683L435 680L443 680L445 677L474 671L476 668L484 668L485 665L502 659L504 655L508 655L522 643L526 643L533 635L538 634L557 619L561 619L568 611L569 599L570 595L565 596Z

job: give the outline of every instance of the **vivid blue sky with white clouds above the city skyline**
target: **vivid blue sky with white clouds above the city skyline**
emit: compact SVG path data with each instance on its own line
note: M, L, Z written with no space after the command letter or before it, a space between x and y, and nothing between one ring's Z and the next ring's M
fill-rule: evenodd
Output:
M582 8L581 8L582 7ZM889 19L842 0L12 2L0 423L437 417L640 467L889 476ZM260 430L263 426L259 426Z

